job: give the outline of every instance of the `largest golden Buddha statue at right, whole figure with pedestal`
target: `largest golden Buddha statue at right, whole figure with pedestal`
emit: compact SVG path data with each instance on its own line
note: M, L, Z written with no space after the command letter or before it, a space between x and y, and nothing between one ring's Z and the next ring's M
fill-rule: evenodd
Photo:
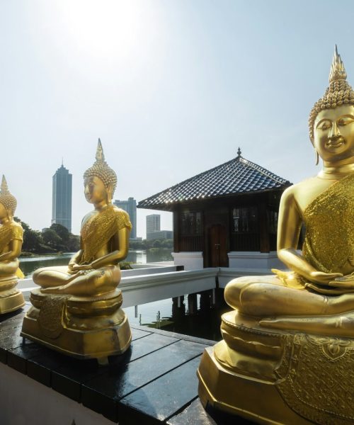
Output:
M234 310L198 369L204 405L261 424L354 422L354 91L346 77L336 47L329 88L309 115L323 169L280 201L278 257L290 271L227 284Z

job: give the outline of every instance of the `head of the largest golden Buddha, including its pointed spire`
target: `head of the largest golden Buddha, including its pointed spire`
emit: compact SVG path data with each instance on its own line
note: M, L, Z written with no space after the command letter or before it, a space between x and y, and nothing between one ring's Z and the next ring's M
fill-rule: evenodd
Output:
M354 156L354 91L348 81L341 56L334 52L329 87L314 104L309 115L309 136L326 162ZM318 157L317 157L318 158Z

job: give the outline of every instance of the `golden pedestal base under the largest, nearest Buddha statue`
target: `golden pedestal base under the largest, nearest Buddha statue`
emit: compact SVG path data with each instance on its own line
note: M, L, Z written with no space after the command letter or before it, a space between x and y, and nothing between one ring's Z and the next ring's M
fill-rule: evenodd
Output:
M353 424L353 339L273 331L236 311L222 334L198 368L204 407L258 424Z

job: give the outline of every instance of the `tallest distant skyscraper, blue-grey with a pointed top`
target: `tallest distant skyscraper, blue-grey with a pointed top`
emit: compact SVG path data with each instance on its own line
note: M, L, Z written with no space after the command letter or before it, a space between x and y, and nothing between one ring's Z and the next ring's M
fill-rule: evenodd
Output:
M63 164L53 176L52 223L72 231L72 174Z

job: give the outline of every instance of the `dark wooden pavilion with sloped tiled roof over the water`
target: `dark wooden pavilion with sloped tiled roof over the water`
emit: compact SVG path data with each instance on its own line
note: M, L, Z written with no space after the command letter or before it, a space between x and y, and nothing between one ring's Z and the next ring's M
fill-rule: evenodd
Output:
M278 209L290 181L237 157L139 202L173 212L173 256L185 268L267 268L276 258ZM255 266L263 261L263 266ZM265 261L265 263L264 263ZM246 264L247 266L247 264Z

